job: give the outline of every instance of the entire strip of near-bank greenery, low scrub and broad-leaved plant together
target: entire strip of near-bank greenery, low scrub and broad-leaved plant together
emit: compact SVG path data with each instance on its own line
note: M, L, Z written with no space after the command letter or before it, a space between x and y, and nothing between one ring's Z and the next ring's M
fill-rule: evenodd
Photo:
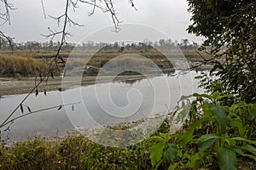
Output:
M227 98L234 97L183 96L189 106L181 100L183 106L172 116L174 123L183 120L182 129L170 134L166 119L154 136L122 149L95 144L83 136L18 142L1 148L0 169L236 169L247 160L253 163L244 163L250 165L246 168L255 168L256 104L234 98L236 102L224 106ZM186 111L179 117L183 108Z

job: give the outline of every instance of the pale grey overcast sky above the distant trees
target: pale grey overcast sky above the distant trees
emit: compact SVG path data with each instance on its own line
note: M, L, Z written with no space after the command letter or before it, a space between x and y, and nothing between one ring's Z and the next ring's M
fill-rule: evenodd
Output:
M46 19L41 0L12 0L10 2L14 3L17 9L11 11L11 25L1 26L0 29L15 37L16 42L49 41L41 34L48 34L48 27L53 30L61 29L57 27L55 20L52 20L49 15L63 14L66 1L44 0ZM184 38L188 38L190 42L202 42L202 37L195 37L186 31L191 21L187 11L188 3L185 0L134 0L134 3L137 11L131 8L128 0L114 1L119 20L122 20L123 24L133 23L151 26L178 42ZM110 14L96 10L95 14L88 16L91 9L90 6L84 4L80 5L75 13L70 10L73 20L84 26L68 26L68 31L73 34L73 37L67 39L68 42L79 42L81 38L96 30L113 26ZM120 28L122 29L122 26ZM54 41L59 41L59 37L56 37Z

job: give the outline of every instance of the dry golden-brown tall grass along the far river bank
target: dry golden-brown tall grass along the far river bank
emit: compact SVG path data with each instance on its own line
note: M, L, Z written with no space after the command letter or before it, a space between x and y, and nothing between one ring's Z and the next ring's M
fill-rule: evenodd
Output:
M1 51L0 52L0 77L34 77L38 76L40 73L47 71L49 66L49 60L55 57L55 51L36 51L36 50L15 50L11 51ZM67 60L69 57L70 51L62 51L60 56ZM181 57L181 52L166 52L170 53L173 59ZM166 70L170 69L170 65L172 64L163 54L157 51L99 51L90 58L91 54L83 53L83 54L73 54L75 57L69 58L69 67L84 67L84 63L90 65L90 69L85 71L86 76L96 76L99 68L105 65L109 59L113 59L119 55L123 54L136 54L144 56L144 59L139 59L137 57L131 56L131 59L126 59L126 63L129 65L134 65L137 67L141 66L143 63L144 66L148 68L150 67L149 61L158 65L160 69ZM195 52L195 50L185 50L183 51L184 56L188 61L200 61L201 57L199 54ZM136 56L135 55L135 56ZM201 54L204 58L209 57L207 54ZM133 58L132 58L133 57ZM113 60L111 63L111 67L116 67L117 62ZM55 71L55 74L58 75L59 71L62 71L63 65L59 67L59 70Z

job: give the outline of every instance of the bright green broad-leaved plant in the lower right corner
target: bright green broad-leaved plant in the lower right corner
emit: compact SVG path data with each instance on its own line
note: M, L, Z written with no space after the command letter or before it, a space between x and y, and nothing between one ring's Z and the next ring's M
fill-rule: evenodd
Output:
M172 135L159 133L148 139L155 169L174 169L177 166L198 169L207 165L236 169L237 161L241 161L242 157L256 161L256 135L253 132L256 122L251 119L255 116L253 108L256 104L247 104L235 98L236 102L232 105L222 105L226 98L232 96L218 92L212 95L193 94L182 99L191 97L195 100L189 102L190 109L186 121L183 121L183 129ZM187 110L188 105L182 108ZM182 108L178 108L175 114L183 114ZM176 117L174 121L181 120Z

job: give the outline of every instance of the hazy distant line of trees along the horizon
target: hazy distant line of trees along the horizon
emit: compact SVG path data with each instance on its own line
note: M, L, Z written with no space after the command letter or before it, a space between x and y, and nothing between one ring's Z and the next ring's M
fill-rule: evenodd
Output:
M29 42L17 42L15 43L15 47L23 50L57 50L60 47L61 42L53 42L50 40L49 42L37 42L37 41L29 41ZM189 39L182 39L180 42L177 40L172 41L172 39L160 39L159 41L150 41L148 39L144 39L143 42L83 42L81 44L76 43L64 43L62 46L62 50L69 51L73 50L74 47L81 49L102 49L105 51L108 50L117 50L117 51L131 51L131 50L143 50L147 52L153 48L159 49L172 49L172 48L181 48L181 49L196 49L199 48L199 44L197 42L189 42ZM0 49L9 50L13 49L13 47L9 46L8 42L0 41Z

